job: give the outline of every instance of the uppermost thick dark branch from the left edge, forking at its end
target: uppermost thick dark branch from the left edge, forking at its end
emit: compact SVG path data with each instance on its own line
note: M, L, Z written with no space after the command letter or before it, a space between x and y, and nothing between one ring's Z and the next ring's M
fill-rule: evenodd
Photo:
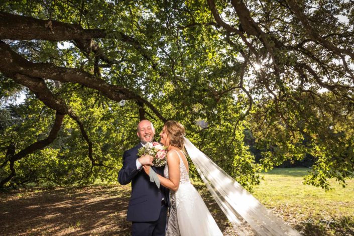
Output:
M109 34L104 29L83 29L76 24L58 21L40 20L32 17L14 15L0 12L0 40L48 40L48 41L74 41L77 47L87 55L94 52L96 56L108 63L117 63L109 59L92 39L116 38L133 46L147 60L152 61L142 45L133 37L123 32L114 31ZM157 64L152 62L153 68Z

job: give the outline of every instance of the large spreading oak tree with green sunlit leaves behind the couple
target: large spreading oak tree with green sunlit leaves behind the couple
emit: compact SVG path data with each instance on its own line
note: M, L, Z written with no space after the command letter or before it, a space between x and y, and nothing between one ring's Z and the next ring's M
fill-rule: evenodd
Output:
M243 185L306 155L353 175L352 1L3 1L0 186L113 180L139 120L183 123ZM207 127L197 125L206 121ZM248 129L261 164L244 145ZM193 170L192 170L193 171Z

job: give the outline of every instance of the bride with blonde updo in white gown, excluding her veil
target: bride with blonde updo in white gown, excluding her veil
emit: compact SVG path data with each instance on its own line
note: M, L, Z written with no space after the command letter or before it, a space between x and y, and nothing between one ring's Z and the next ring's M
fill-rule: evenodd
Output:
M184 127L176 121L165 123L160 133L161 144L168 147L165 177L160 183L171 189L170 217L166 235L222 235L203 199L189 181L189 168L184 148ZM143 166L149 174L150 166Z

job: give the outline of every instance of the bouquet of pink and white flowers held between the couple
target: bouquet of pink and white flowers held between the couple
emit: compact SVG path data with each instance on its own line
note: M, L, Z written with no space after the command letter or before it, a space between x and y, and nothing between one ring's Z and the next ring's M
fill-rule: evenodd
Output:
M138 150L138 156L150 155L154 157L153 166L162 167L167 164L167 147L158 142L148 142Z

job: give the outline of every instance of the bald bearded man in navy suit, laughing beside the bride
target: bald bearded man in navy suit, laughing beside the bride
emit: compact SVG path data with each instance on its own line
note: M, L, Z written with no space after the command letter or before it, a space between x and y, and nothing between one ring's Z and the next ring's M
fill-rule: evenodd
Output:
M147 142L153 142L155 129L150 121L138 124L140 143L123 154L123 167L118 173L118 182L122 185L132 181L132 196L129 201L127 220L132 221L133 236L165 235L167 219L168 189L150 182L149 176L142 171L143 165L152 165L149 156L138 157L139 148ZM163 176L163 167L155 168Z

